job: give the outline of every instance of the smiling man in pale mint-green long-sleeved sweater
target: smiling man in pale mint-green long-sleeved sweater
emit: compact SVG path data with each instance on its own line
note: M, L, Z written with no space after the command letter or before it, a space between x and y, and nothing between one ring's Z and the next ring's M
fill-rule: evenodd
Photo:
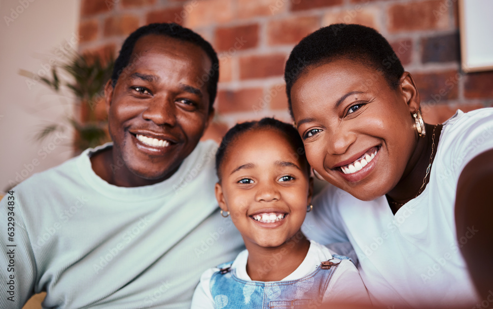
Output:
M105 88L113 143L33 175L1 201L0 308L187 308L243 241L214 198L218 60L176 24L124 42ZM10 235L9 235L10 237ZM5 282L7 284L5 285Z

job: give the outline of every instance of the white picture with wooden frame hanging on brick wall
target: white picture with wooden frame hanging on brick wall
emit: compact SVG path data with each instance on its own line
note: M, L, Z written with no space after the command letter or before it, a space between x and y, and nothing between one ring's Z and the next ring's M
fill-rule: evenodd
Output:
M462 70L493 70L493 1L459 0L458 9Z

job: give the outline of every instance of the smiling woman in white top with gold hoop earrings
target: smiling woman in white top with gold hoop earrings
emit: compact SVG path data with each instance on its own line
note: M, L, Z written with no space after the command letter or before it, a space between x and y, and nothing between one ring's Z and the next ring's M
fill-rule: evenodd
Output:
M350 241L376 305L487 299L493 108L425 124L413 77L381 34L360 25L305 37L284 77L307 158L333 185L314 201L307 236Z

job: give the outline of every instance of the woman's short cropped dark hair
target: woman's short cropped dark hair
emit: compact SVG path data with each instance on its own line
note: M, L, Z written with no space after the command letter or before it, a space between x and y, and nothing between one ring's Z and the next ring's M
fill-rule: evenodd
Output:
M309 67L346 58L375 69L396 89L404 68L392 47L375 29L356 24L332 24L303 38L291 51L284 69L289 112L291 88Z

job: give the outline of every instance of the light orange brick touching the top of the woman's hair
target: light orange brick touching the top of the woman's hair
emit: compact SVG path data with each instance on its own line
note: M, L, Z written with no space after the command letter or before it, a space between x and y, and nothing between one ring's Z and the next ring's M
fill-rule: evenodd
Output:
M376 22L376 16L378 14L377 9L363 7L360 4L356 4L351 9L329 11L325 13L322 19L322 26L328 26L330 24L359 24L373 29L380 30Z

